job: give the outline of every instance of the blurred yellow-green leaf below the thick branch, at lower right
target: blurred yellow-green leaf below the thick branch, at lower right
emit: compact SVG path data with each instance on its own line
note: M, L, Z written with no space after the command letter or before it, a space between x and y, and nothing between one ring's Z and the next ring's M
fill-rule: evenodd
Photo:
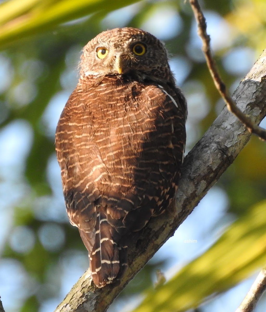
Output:
M134 312L181 312L229 289L266 263L266 200L234 222L202 256L165 285L149 290Z

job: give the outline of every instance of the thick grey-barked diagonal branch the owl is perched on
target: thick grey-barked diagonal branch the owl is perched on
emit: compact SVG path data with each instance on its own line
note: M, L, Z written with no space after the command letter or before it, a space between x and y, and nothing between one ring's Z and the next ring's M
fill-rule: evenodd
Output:
M234 93L238 107L258 124L266 115L266 50L241 81ZM140 237L132 235L129 267L119 285L102 289L92 283L90 270L73 286L56 312L104 312L126 284L155 252L174 234L178 226L217 182L250 138L250 132L226 108L202 139L185 157L172 215L152 218Z

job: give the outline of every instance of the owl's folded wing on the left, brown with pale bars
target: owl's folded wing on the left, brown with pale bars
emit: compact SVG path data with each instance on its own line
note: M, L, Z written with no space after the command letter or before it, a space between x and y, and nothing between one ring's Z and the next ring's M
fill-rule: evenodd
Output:
M78 227L86 248L91 252L97 218L95 201L99 192L90 177L104 173L105 168L101 158L97 158L97 146L88 141L91 123L83 119L83 106L82 95L75 90L58 121L55 145L69 220ZM90 149L96 158L88 158L86 149ZM92 173L90 165L95 168Z

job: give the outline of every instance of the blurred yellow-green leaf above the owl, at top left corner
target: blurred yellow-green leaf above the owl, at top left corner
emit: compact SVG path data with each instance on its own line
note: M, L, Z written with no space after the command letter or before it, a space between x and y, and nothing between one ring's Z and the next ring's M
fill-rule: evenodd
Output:
M0 4L0 48L25 36L94 12L107 13L140 0L9 0Z

